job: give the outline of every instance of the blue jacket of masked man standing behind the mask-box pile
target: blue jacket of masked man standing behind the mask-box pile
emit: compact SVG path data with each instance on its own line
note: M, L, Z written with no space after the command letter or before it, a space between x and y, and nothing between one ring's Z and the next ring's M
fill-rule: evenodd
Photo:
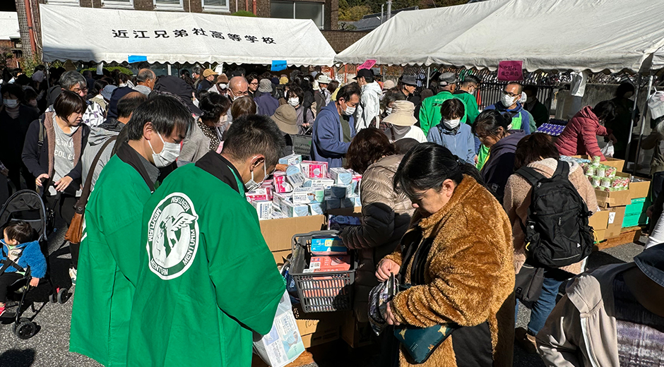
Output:
M348 116L347 122L341 119L334 101L321 109L321 113L314 121L314 135L312 136L312 157L316 161L328 162L328 167L341 167L342 158L348 152L350 143L343 141L343 128L341 124L350 124L350 136L355 137L355 119Z

